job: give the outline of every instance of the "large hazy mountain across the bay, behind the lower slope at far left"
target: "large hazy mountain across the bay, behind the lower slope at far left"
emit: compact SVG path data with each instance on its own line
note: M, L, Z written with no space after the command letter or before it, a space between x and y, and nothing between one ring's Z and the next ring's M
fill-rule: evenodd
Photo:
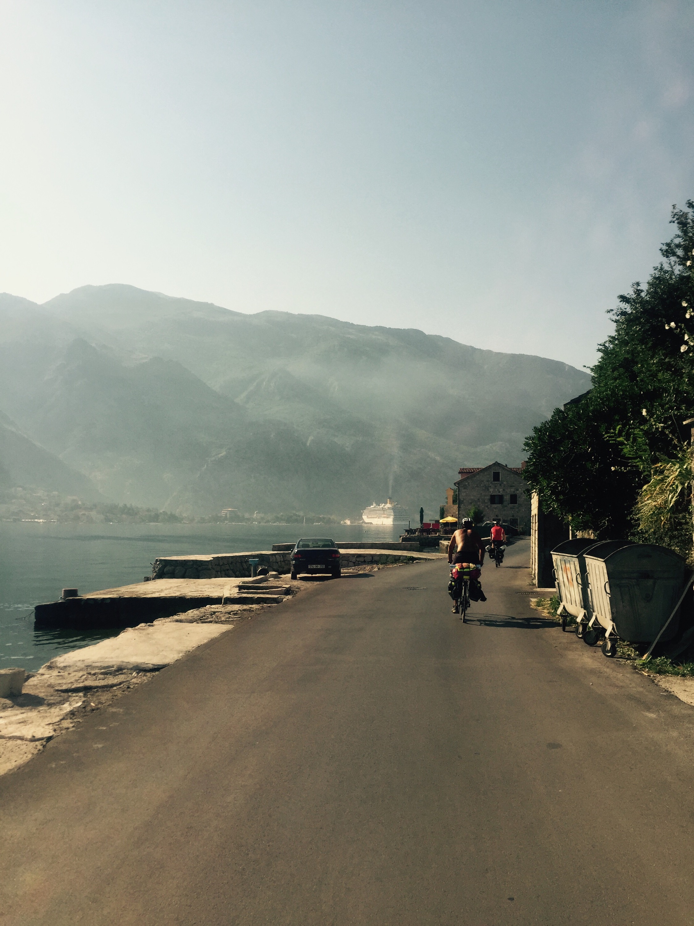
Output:
M345 517L389 494L434 514L460 466L518 465L588 388L564 363L412 329L120 284L0 296L2 410L105 497L183 514Z

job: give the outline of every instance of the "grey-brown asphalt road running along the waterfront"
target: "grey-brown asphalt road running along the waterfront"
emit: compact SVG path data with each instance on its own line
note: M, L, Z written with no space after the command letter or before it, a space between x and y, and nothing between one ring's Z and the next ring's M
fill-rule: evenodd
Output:
M0 923L694 922L694 707L527 605L527 542L315 581L0 780Z

